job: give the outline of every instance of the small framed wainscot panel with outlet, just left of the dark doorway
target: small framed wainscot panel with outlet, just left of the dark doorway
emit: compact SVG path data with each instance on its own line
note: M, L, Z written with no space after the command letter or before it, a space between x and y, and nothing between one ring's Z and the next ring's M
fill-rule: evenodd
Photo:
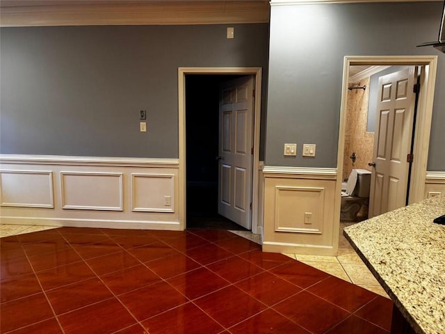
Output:
M175 212L175 175L131 174L134 212Z

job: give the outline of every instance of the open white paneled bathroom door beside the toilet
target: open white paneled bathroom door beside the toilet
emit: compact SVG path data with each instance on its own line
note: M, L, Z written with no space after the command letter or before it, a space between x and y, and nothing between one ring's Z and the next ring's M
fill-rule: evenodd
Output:
M369 217L405 206L415 79L414 66L379 78Z

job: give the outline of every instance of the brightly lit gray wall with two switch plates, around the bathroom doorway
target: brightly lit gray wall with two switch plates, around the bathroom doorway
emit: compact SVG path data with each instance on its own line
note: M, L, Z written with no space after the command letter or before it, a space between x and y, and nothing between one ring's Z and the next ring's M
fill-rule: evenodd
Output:
M344 56L437 55L428 170L445 170L445 54L416 45L437 38L442 3L273 6L266 164L337 166ZM283 157L298 143L298 157ZM315 143L315 158L301 157Z

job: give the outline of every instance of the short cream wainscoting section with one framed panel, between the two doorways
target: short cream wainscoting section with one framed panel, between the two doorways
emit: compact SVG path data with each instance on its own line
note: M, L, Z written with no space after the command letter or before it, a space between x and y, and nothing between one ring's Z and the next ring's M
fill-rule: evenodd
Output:
M337 170L266 166L263 173L263 250L334 255L339 239ZM310 222L305 219L307 214Z

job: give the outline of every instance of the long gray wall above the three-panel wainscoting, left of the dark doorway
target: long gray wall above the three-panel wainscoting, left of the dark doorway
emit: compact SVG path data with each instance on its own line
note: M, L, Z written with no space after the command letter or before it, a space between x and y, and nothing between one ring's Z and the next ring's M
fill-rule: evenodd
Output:
M181 66L263 67L265 116L268 24L230 26L2 28L0 152L177 158Z

